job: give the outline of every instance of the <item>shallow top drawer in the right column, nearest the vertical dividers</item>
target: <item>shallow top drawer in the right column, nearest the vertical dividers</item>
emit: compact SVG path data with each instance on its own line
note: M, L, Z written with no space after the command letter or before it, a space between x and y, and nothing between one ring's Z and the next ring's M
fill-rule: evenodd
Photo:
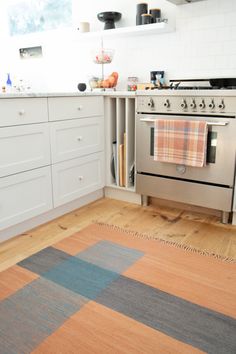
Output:
M103 97L49 97L49 120L103 115Z

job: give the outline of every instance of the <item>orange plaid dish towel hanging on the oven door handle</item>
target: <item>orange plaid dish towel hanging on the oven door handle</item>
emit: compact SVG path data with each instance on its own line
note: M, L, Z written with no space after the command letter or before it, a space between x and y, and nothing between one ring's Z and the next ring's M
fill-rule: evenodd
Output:
M193 120L157 119L154 160L186 166L206 165L207 123Z

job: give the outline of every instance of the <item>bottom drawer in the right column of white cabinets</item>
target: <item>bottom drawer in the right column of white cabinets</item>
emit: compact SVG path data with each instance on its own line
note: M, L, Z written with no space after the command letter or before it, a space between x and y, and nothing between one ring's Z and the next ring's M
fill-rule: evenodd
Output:
M93 154L52 166L54 207L104 187L104 155Z

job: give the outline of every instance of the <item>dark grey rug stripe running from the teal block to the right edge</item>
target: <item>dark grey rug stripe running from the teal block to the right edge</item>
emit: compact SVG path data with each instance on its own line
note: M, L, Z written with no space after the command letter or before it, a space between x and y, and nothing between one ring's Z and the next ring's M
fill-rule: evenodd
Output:
M236 320L120 276L96 302L212 354L236 353Z

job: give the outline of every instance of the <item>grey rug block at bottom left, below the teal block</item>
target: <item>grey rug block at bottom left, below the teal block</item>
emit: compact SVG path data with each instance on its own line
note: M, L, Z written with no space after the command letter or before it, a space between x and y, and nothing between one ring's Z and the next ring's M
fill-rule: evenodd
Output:
M0 303L0 353L30 353L87 302L47 279L34 280Z

